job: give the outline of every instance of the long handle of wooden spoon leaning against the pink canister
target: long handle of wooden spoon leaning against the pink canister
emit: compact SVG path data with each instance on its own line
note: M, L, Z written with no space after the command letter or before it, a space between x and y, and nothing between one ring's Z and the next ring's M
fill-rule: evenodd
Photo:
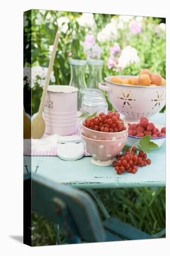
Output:
M42 115L42 112L43 112L44 102L45 102L45 98L46 98L46 92L47 92L48 85L49 85L49 82L50 82L50 76L51 76L51 73L52 73L52 67L53 67L53 63L54 63L54 59L55 59L55 54L56 54L56 51L57 51L58 42L59 42L59 33L57 32L56 36L55 36L55 40L54 40L54 46L53 46L53 49L52 49L52 55L51 55L50 63L49 63L49 66L48 66L48 71L47 71L46 80L45 80L45 84L44 84L44 90L43 90L43 94L42 94L42 97L41 97L41 102L40 102L40 105L39 105L39 113L38 113L39 115Z

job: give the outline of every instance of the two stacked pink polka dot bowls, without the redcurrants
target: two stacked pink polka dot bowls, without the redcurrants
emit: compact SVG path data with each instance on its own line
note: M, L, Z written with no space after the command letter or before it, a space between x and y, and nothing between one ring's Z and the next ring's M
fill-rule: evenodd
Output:
M99 166L109 166L114 157L124 148L128 138L127 129L117 133L105 133L86 128L81 122L81 138L85 149L92 155L92 163Z

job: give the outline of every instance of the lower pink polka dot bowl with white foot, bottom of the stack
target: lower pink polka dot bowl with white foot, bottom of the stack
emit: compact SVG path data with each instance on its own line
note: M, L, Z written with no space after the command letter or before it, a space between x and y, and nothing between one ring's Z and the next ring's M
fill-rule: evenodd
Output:
M96 140L81 133L85 149L92 155L92 163L100 166L111 165L114 157L124 148L128 135L118 140Z

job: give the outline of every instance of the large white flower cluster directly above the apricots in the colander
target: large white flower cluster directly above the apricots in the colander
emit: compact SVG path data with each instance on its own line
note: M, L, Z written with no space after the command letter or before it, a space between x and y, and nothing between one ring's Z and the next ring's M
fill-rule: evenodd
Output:
M133 63L139 63L140 59L137 50L130 45L122 50L121 56L118 58L118 67L124 69Z

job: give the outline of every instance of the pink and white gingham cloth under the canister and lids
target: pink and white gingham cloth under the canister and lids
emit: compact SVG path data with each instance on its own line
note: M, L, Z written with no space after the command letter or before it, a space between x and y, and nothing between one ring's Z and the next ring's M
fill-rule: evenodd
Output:
M80 136L81 125L78 120L76 133L73 135ZM45 134L41 139L24 140L24 155L27 156L57 156L57 141L59 135L47 135ZM31 144L31 145L30 145ZM85 150L85 156L89 156L89 153Z

